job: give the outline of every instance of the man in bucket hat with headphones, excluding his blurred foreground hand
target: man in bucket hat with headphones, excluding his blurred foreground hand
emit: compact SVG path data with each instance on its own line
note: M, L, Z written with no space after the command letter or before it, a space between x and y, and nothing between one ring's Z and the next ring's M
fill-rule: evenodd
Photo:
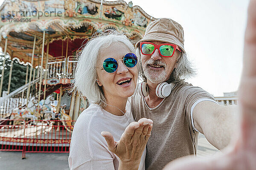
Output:
M196 154L198 132L218 149L235 134L237 107L218 105L209 93L184 82L194 71L183 42L182 26L163 18L149 23L135 45L144 82L138 88L141 95L131 97L132 113L136 121L146 117L154 122L146 170L162 169L173 159Z

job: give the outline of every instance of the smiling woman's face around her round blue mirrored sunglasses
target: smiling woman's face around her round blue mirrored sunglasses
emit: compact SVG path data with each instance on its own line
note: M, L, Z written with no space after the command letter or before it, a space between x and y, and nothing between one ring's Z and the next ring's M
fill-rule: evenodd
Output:
M131 52L129 48L123 43L113 43L108 48L99 51L97 61L97 81L98 85L102 86L106 99L113 98L128 98L134 94L138 71L137 66L134 68L127 68L122 60L124 55ZM103 67L103 61L112 57L117 60L118 68L114 73L107 73ZM119 61L118 61L119 60Z

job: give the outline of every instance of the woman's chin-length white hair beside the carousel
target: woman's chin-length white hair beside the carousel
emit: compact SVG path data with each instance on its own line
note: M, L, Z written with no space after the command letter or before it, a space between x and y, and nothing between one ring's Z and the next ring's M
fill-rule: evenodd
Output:
M122 43L135 54L134 42L128 39L125 33L107 30L91 37L82 51L76 55L78 62L74 71L72 91L78 91L80 97L87 97L90 103L96 103L102 108L106 107L107 101L102 86L96 82L96 64L99 59L99 52L113 43Z

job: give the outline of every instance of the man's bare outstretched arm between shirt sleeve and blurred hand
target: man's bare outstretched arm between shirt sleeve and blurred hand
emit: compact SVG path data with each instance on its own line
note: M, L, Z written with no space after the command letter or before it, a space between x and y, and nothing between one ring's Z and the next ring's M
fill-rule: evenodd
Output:
M193 110L195 128L219 150L230 144L238 135L238 106L223 106L214 102L198 103Z

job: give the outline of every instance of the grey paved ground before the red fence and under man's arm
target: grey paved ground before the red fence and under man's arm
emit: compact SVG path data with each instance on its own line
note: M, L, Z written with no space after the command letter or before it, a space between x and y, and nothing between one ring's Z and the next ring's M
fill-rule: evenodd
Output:
M199 135L198 157L211 156L220 151ZM1 170L69 170L68 153L26 153L21 159L21 152L0 152Z

